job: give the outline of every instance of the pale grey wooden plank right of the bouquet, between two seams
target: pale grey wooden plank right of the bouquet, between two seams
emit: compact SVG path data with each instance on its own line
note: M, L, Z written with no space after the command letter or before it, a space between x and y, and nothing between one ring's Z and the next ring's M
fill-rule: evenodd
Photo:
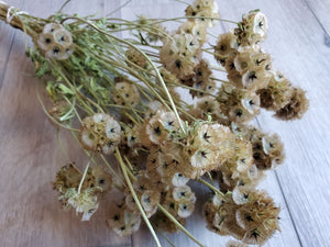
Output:
M302 120L285 123L270 113L258 120L264 130L284 141L287 158L277 175L302 246L328 246L330 49L323 31L304 1L223 1L222 8L222 16L231 19L262 9L270 21L263 47L276 68L307 90L310 109Z

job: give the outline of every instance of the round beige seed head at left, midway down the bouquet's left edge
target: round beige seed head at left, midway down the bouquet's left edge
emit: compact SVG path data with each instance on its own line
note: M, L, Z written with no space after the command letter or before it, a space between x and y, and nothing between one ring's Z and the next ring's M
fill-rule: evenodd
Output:
M79 141L84 148L103 154L113 153L121 139L121 127L110 115L97 113L82 120Z

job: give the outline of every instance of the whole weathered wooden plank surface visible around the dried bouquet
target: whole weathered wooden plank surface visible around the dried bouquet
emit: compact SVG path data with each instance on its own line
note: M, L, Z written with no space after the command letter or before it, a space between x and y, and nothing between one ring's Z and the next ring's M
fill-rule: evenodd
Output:
M66 12L99 15L111 12L123 0L73 0ZM191 1L189 1L191 2ZM56 11L64 0L8 0L37 16ZM240 20L242 13L261 9L270 32L263 47L275 67L295 85L307 90L310 109L300 121L280 122L262 112L257 124L278 133L286 148L286 161L271 172L262 187L282 205L282 233L270 247L330 246L330 1L329 0L218 0L223 19ZM123 19L138 14L153 18L179 16L184 3L173 0L132 0L116 13ZM232 24L221 23L224 32ZM43 86L24 56L24 35L0 23L0 246L132 246L152 247L146 227L121 238L105 225L109 209L99 210L90 222L80 222L56 202L50 182L63 164L84 160L72 139L61 135L69 154L57 148L57 133L42 111ZM78 158L77 158L78 157ZM202 192L202 189L199 189ZM202 194L202 193L201 193ZM204 195L205 197L205 195ZM106 205L111 201L106 200ZM197 205L196 211L200 211ZM224 246L229 238L205 228L200 215L188 220L188 229L206 246ZM178 247L195 246L184 234L168 235ZM168 246L160 236L163 246Z

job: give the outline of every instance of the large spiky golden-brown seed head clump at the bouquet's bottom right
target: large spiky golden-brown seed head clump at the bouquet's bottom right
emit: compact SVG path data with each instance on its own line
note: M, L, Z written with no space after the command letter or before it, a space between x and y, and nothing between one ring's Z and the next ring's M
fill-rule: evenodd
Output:
M250 188L234 191L235 194L216 194L212 202L205 204L208 228L245 244L263 245L279 229L279 207L264 192Z

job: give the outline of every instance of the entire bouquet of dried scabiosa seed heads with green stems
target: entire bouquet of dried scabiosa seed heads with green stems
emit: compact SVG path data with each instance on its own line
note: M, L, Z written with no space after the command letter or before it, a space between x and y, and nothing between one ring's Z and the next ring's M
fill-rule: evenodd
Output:
M131 235L143 220L157 246L154 229L183 231L202 246L184 227L196 180L212 192L202 210L207 227L241 240L228 246L263 245L279 231L279 206L256 186L283 162L283 144L249 122L261 108L279 120L300 119L308 100L261 48L266 16L251 11L208 44L209 29L228 21L213 0L196 0L170 20L81 18L62 9L40 19L0 1L0 19L34 43L26 56L53 102L46 115L89 156L85 169L72 162L57 172L53 188L63 207L88 221L98 198L117 188L122 201L107 218L117 234ZM169 32L166 22L179 26ZM122 31L131 37L118 37Z

